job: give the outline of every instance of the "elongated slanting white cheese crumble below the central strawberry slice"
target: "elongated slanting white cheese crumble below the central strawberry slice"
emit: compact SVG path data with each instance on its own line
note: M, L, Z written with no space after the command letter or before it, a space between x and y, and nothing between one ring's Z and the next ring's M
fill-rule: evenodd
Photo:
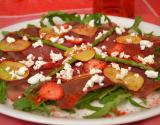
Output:
M83 88L83 91L87 91L89 87L93 87L95 83L98 83L100 86L103 86L102 83L104 80L104 76L100 76L98 74L93 75L86 83L86 85Z

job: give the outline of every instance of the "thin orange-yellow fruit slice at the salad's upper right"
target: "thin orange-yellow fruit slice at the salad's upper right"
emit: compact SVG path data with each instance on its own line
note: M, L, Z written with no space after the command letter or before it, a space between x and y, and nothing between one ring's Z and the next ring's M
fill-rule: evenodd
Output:
M141 41L141 38L139 36L119 36L116 38L116 41L118 43L124 43L124 44L139 44Z

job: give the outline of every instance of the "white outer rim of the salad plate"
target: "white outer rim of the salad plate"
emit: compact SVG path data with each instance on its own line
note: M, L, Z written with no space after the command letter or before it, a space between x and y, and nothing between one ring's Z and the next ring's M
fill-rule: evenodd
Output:
M120 20L120 21L124 20L126 22L129 21L129 23L131 23L131 22L133 23L133 21L134 21L134 19L125 18L125 17L118 17L118 16L109 16L109 18L111 20ZM27 20L27 21L18 22L16 24L12 24L7 27L1 28L0 32L5 29L10 29L10 27L16 27L17 25L18 26L23 25L23 27L24 27L24 24L27 24L28 22L38 22L38 21L39 21L39 19L31 19L31 20ZM142 22L142 26L143 25L149 25L149 27L156 27L160 31L160 26L158 26L158 25L144 22L144 21ZM0 38L1 37L2 37L2 35L0 35ZM129 114L126 116L120 116L120 117L115 117L115 118L99 118L99 119L71 119L71 118L66 119L66 118L54 118L54 117L50 118L50 117L36 115L33 113L27 113L24 111L15 110L12 107L7 108L7 106L4 104L0 104L0 113L17 118L17 119L35 122L35 123L43 123L43 124L59 124L59 125L60 124L67 124L67 125L112 124L112 125L114 125L114 124L131 123L131 122L144 120L144 119L159 115L160 114L160 106L154 107L152 109L146 109L142 112L137 112L137 113ZM27 116L27 117L25 117L25 116Z

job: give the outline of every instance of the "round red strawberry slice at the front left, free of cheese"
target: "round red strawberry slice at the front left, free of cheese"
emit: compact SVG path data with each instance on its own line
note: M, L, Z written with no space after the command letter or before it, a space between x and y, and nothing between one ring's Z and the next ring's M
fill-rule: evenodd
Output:
M46 100L60 100L64 96L64 90L60 85L50 81L41 86L39 96Z

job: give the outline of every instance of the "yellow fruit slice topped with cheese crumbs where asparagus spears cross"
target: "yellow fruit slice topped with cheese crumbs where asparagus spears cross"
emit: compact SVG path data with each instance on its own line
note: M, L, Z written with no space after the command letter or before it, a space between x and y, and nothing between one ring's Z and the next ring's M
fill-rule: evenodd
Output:
M81 49L81 47L77 47L77 49L71 48L64 54L67 57L74 57L80 61L89 61L95 55L95 51L92 47L87 46L86 49Z

